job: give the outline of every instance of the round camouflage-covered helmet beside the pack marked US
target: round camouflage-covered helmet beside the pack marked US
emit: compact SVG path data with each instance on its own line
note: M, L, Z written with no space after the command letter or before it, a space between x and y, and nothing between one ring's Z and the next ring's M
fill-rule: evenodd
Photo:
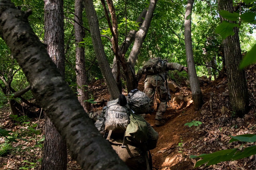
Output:
M129 107L135 111L136 114L144 114L149 109L150 99L145 93L138 89L133 89L127 95L127 101Z

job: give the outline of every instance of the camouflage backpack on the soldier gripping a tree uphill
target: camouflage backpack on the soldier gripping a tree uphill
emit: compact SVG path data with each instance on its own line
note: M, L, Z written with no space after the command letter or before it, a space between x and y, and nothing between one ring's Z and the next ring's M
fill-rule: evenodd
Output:
M164 63L166 60L162 60L161 57L151 58L145 64L143 64L142 69L146 74L158 74L162 72Z

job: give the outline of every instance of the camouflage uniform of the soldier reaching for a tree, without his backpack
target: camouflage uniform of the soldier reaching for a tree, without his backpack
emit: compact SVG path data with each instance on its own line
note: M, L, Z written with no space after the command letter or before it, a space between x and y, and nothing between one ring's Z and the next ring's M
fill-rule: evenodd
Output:
M178 70L182 71L182 68L185 66L182 66L178 63L169 63L166 62L163 68L165 68L165 71L159 73L159 74L147 74L146 79L144 81L144 92L150 99L149 108L152 108L154 104L154 96L155 92L157 92L160 100L160 105L158 107L158 111L156 113L155 119L161 120L163 118L163 114L165 113L167 109L167 97L168 97L168 91L166 89L166 86L164 84L165 82L165 76L168 70ZM137 82L141 79L142 75L146 74L144 70L141 68L136 75Z

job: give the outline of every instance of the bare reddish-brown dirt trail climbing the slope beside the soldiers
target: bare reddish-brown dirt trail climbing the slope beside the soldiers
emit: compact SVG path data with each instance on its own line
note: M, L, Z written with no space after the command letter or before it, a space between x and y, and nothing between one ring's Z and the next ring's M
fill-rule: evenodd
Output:
M138 89L143 91L143 82L139 83ZM187 91L185 92L188 93ZM175 96L186 96L189 94L184 94L183 92L182 94L173 93L171 95L173 99ZM166 123L163 126L154 125L156 111L157 110L155 110L152 115L147 114L145 117L145 119L159 134L157 147L151 151L153 167L159 170L192 169L194 166L192 162L186 161L185 164L181 163L184 159L182 158L182 154L178 153L178 144L189 141L193 138L184 126L185 123L190 122L194 117L196 117L196 114L194 114L193 104L187 104L182 100L180 105L177 106L170 102L164 114Z

